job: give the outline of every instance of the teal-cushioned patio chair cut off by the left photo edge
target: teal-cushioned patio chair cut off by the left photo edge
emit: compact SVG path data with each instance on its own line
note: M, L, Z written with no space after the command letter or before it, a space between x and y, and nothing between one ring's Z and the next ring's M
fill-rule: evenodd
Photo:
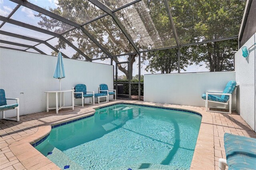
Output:
M16 100L16 103L7 105L6 100ZM16 109L17 111L17 119L9 119L5 118L5 111ZM6 98L4 89L0 89L0 111L3 112L3 119L7 121L20 121L20 106L19 106L19 98L12 99L12 98Z

